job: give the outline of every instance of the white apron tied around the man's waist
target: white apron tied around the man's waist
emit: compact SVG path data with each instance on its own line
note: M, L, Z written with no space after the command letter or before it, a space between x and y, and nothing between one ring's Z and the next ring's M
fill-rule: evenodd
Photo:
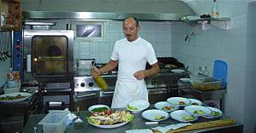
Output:
M144 80L117 78L111 108L126 107L131 101L148 101Z

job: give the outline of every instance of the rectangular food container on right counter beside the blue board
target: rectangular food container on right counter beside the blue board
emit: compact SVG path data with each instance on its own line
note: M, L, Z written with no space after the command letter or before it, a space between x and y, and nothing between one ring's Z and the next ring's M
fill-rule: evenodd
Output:
M204 77L192 79L193 88L198 90L219 90L221 89L222 81L220 79Z

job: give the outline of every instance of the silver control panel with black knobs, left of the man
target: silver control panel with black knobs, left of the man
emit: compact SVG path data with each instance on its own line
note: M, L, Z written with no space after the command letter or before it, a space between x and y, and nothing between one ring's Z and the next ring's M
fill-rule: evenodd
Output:
M74 77L74 92L99 90L92 76Z

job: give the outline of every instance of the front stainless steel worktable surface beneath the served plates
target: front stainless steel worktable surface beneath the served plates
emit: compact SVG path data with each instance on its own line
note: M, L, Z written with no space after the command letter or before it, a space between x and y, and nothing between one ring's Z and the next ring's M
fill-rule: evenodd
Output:
M151 106L152 108L152 106ZM124 108L120 108L125 110ZM87 123L86 117L90 115L89 112L84 111L80 113L80 119L85 121L85 127L80 130L75 130L74 125L70 124L67 127L66 133L104 133L104 132L110 132L110 133L122 133L125 132L125 130L138 130L138 129L150 129L152 127L156 126L164 126L166 124L158 124L158 125L146 125L145 122L147 121L146 119L143 119L140 115L140 113L134 113L135 118L133 121L129 122L128 124L123 125L122 127L116 128L116 129L99 129L91 124ZM42 126L38 125L39 121L45 117L45 114L39 114L39 115L32 115L27 121L27 124L22 131L23 133L34 133L34 127L37 127L37 133L42 132ZM204 122L204 121L209 121L209 119L203 119L199 118L197 121L194 123L198 122ZM174 119L167 119L165 122L169 122L170 124L178 124L178 122ZM167 124L168 125L168 124ZM202 132L242 132L243 125L242 124L231 124L227 126L221 126L221 127L216 127L216 128L208 128L208 129L203 129L203 130L193 130L193 131L202 131ZM191 131L188 131L191 132Z

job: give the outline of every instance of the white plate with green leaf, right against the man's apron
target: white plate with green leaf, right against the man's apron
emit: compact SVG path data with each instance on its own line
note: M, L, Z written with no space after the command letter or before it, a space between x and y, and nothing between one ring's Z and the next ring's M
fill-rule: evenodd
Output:
M133 109L128 108L128 105L131 106L131 107L136 107L137 110L133 110ZM126 106L128 111L131 111L133 113L139 113L140 111L149 107L150 103L148 101L133 101L133 102L128 103L128 105Z

